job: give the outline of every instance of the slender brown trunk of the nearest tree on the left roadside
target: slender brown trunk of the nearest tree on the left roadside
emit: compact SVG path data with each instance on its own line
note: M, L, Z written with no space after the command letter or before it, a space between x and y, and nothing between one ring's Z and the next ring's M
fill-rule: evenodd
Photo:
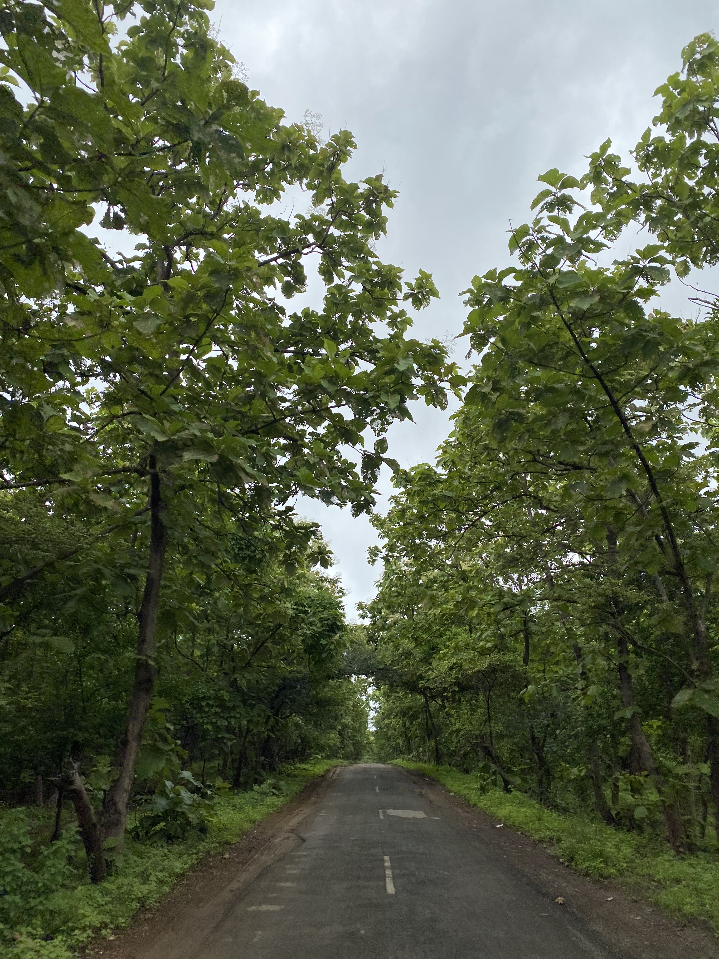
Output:
M135 763L142 744L145 720L150 710L157 667L154 664L154 631L160 600L160 584L167 549L167 527L163 522L165 503L160 496L160 476L155 457L150 457L150 557L145 577L145 592L138 617L137 654L128 721L120 752L115 762L118 776L107 790L102 815L103 839L117 840L115 848L122 852L128 803L135 776Z

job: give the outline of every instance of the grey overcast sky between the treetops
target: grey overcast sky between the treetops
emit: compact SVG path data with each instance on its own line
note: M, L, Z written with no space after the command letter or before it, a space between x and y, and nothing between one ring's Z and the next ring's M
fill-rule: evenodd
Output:
M351 175L380 172L400 197L385 261L429 269L442 295L415 334L460 332L458 295L507 262L507 224L528 219L550 167L580 174L608 136L626 152L658 112L657 86L694 35L714 30L715 0L218 0L220 36L249 85L290 122L320 113L327 137L350 129ZM458 340L454 358L466 353ZM404 466L433 461L449 413L413 411L390 433ZM381 483L384 510L391 494ZM376 541L362 517L303 501L322 524L348 591L374 594Z

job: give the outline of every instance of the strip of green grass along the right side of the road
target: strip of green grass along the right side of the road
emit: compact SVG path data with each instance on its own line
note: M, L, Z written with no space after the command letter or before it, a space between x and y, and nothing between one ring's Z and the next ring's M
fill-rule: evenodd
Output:
M706 920L719 932L719 856L677 855L655 835L615 830L572 813L556 812L519 792L481 791L476 776L450 766L395 760L431 776L472 806L541 842L573 870L618 879L675 918Z

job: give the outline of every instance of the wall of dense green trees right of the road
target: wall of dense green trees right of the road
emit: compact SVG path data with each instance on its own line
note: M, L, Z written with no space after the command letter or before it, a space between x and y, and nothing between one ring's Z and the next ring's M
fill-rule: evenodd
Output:
M719 260L717 41L658 92L638 178L609 141L581 179L550 170L517 264L473 280L472 385L376 521L366 614L381 756L685 852L719 828L719 308L659 300Z

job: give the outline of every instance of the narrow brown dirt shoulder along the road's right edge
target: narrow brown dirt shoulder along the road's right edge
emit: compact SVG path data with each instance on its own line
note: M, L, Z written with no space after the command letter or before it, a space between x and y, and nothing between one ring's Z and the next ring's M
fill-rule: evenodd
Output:
M564 899L563 908L587 924L617 959L719 959L719 940L708 928L673 922L618 882L577 876L538 843L508 826L498 829L498 819L435 780L406 772L443 816L473 830L552 901Z

